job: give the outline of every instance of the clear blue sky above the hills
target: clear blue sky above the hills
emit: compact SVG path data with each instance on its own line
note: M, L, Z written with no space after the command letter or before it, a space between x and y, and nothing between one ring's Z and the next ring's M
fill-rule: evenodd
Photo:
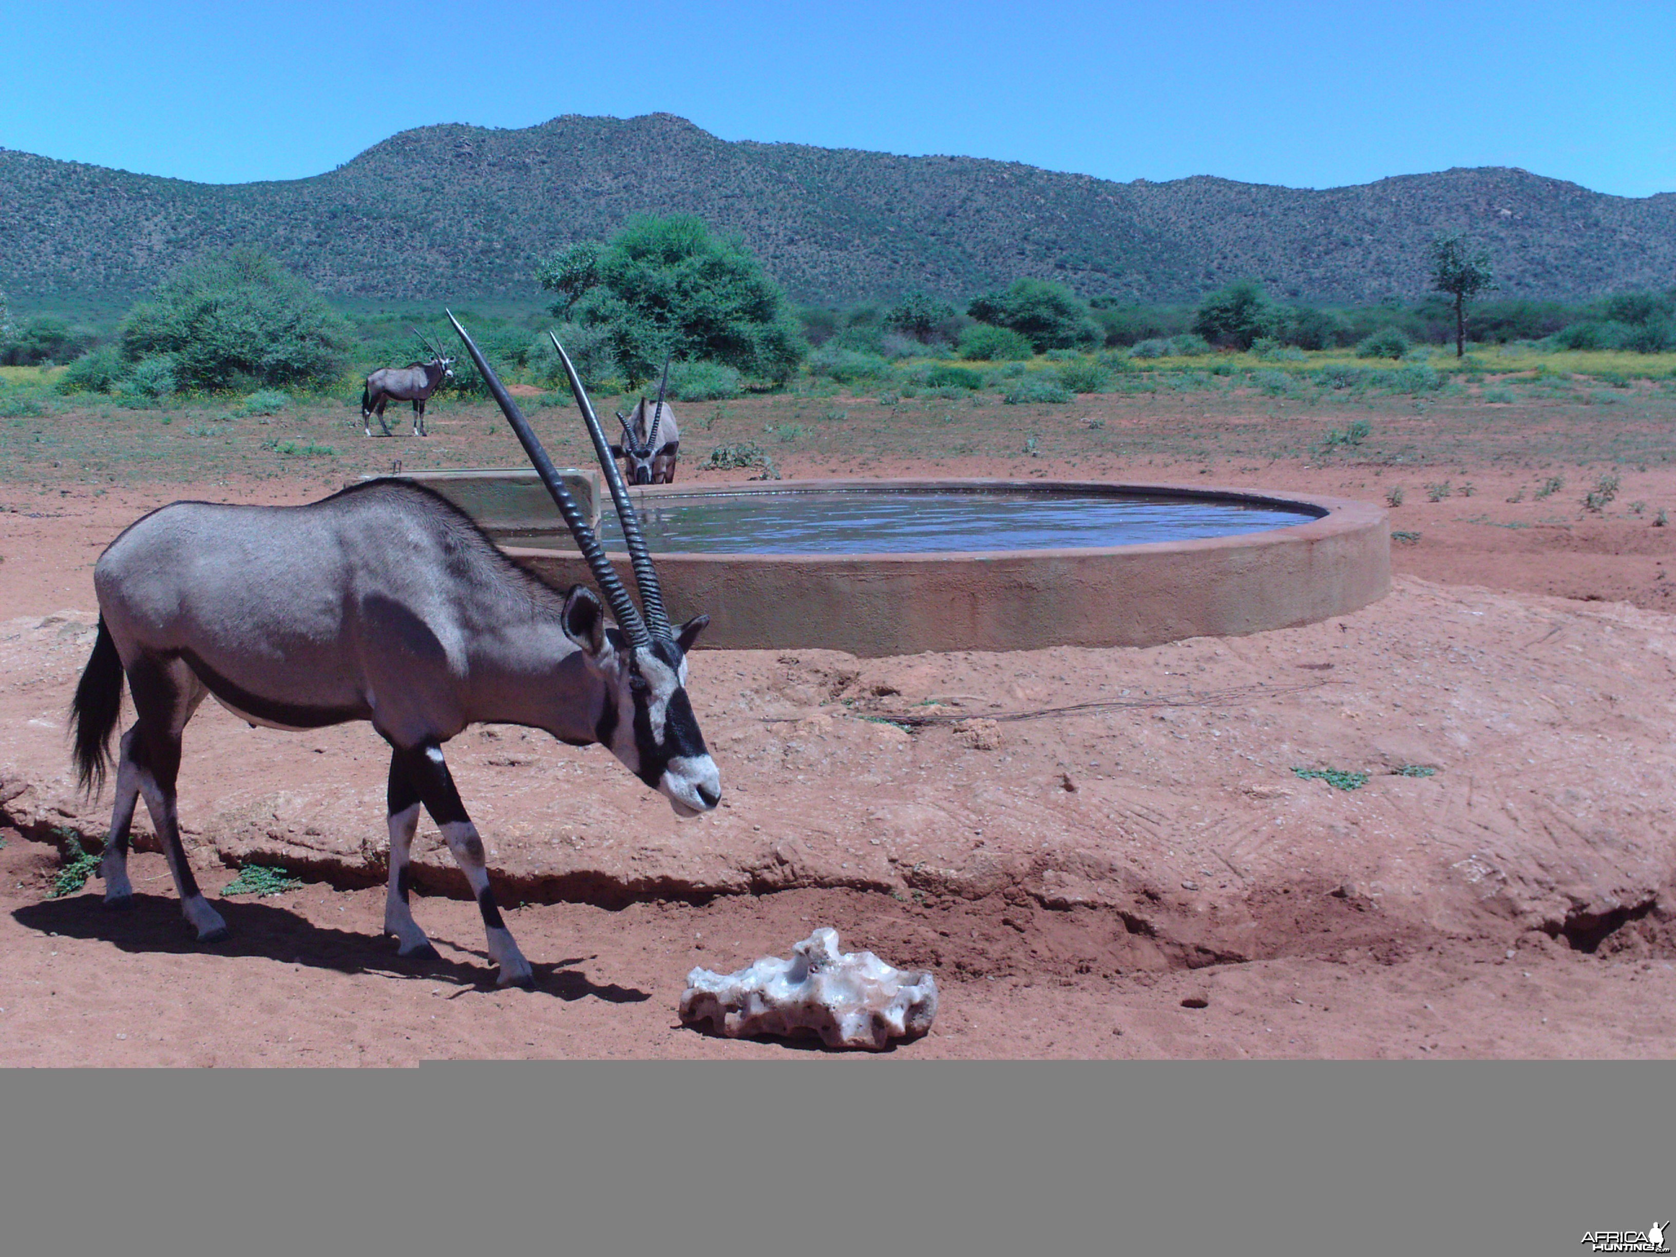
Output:
M1676 191L1673 3L34 3L0 146L288 179L406 127L680 114L724 139L1331 188L1523 166Z

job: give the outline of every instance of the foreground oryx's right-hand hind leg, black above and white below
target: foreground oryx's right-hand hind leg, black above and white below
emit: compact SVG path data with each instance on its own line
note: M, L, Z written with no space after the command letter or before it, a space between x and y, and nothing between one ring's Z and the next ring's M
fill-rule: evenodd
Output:
M127 669L127 687L139 716L129 759L134 764L139 793L151 813L151 825L163 843L163 855L174 875L186 923L198 942L226 937L226 922L210 907L186 861L181 825L174 808L174 783L181 771L181 731L210 692L181 660L141 657ZM124 739L126 741L126 739Z

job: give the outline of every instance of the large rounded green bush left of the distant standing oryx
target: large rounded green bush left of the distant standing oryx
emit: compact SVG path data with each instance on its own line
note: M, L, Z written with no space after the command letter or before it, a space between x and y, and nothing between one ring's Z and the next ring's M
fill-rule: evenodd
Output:
M266 253L235 248L191 261L122 320L122 357L181 389L335 384L349 323Z

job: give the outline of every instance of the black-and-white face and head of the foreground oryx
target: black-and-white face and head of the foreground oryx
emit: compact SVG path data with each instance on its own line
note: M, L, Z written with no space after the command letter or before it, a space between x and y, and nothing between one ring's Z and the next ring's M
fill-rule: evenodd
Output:
M685 689L687 650L707 623L709 617L699 615L674 639L652 639L644 647L612 628L595 652L607 687L593 736L664 794L677 816L699 816L722 798L721 774Z

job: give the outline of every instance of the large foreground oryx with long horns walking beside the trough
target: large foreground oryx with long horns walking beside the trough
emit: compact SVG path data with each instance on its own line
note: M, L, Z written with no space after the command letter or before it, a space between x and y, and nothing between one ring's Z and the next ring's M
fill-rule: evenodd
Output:
M453 315L449 315L453 320ZM600 742L679 816L721 801L721 779L687 701L687 652L709 623L674 627L640 525L577 372L565 372L605 471L640 588L628 597L605 550L466 330L471 360L523 442L610 605L548 588L429 489L377 479L308 506L174 503L131 525L94 565L99 637L72 704L75 764L97 789L127 677L136 721L122 734L116 808L101 875L106 905L127 907L134 803L163 840L199 942L226 923L181 850L174 781L181 731L206 694L251 724L315 729L370 721L391 744L391 878L384 929L399 955L434 954L407 905L419 804L442 830L483 912L499 982L530 964L489 890L483 841L466 816L442 742L468 724L546 729Z

